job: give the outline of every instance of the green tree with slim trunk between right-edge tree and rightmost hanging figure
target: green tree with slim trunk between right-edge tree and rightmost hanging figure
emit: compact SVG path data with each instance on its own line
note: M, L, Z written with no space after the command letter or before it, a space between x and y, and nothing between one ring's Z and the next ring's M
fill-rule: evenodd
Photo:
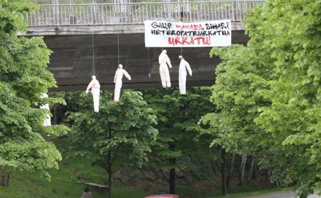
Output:
M226 152L242 155L240 168L240 183L243 184L246 155L258 152L257 138L265 138L264 133L253 119L258 115L258 106L270 105L269 101L257 96L256 87L263 87L264 79L260 75L269 75L269 69L255 69L252 62L259 62L257 55L252 55L249 49L242 45L232 45L228 48L213 48L210 56L219 55L222 63L216 69L216 84L212 86L211 101L217 106L217 111L202 118L202 123L209 124L212 133L211 146L221 146ZM263 56L263 55L261 55ZM265 65L269 68L269 65ZM255 83L254 83L255 82ZM234 163L231 163L234 166ZM230 167L233 171L233 167ZM231 172L227 182L230 181Z

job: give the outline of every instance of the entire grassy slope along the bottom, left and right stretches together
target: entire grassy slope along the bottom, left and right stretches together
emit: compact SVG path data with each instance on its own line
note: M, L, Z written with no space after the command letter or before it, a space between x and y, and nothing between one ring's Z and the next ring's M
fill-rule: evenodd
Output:
M0 187L0 198L78 198L81 197L83 188L74 183L76 177L83 182L104 184L106 172L100 167L91 166L91 161L77 157L72 160L64 160L59 170L50 171L51 182L40 173L23 173L15 171L11 173L8 188ZM220 188L217 193L208 193L194 188L177 187L177 194L183 197L203 198L221 197ZM276 191L275 189L259 191L260 187L255 183L243 187L231 186L230 195L227 197L248 196ZM255 192L253 192L255 191ZM106 192L92 190L94 198L107 197ZM114 198L142 198L148 193L139 190L130 190L123 187L113 188Z

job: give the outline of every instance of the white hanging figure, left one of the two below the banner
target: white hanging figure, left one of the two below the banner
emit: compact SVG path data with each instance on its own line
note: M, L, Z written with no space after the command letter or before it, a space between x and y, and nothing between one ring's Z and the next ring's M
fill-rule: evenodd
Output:
M167 64L169 68L172 68L172 65L170 63L170 59L168 58L167 51L165 49L162 51L161 55L159 55L158 63L159 63L159 75L161 76L162 86L164 88L171 87Z

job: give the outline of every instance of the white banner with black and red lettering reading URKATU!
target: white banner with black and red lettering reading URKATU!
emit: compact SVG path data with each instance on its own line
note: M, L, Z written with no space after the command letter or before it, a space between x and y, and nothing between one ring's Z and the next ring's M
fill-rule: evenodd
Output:
M231 44L230 20L170 23L145 21L146 47L220 47Z

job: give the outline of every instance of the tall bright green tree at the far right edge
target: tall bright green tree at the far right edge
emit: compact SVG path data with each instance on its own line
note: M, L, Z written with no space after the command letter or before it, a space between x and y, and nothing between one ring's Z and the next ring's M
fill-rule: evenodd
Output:
M260 108L255 123L275 138L282 138L282 148L291 156L286 178L296 181L296 194L306 197L320 185L318 147L320 113L321 61L321 2L314 1L270 1L255 10L247 23L258 23L258 12L263 13L265 23L259 28L265 42L263 49L271 48L273 76L269 90L262 91L272 105ZM273 13L271 11L273 10ZM269 13L270 12L270 13ZM256 31L250 32L257 34ZM260 36L260 34L258 34ZM282 35L278 37L278 35ZM253 45L258 45L254 41Z

